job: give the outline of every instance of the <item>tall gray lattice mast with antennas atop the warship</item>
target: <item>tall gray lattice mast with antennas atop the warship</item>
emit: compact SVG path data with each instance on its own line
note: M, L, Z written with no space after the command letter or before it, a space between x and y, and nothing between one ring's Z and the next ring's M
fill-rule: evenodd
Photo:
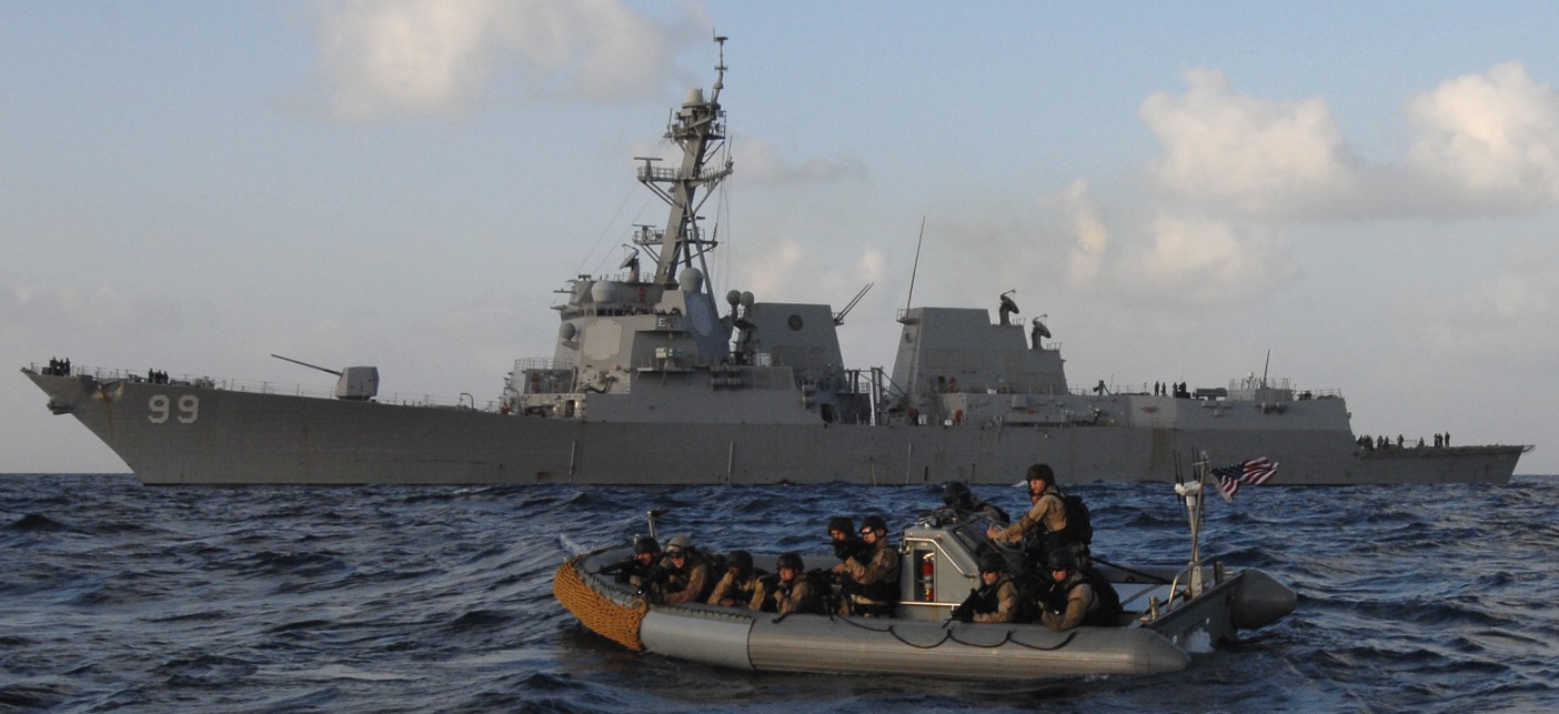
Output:
M642 231L635 242L644 248L659 246L655 267L655 282L664 287L677 285L678 267L692 267L694 257L702 259L703 253L716 246L716 240L705 240L698 231L698 209L712 195L714 187L731 175L731 159L725 165L705 168L709 159L725 145L725 112L720 111L720 90L725 89L725 37L714 37L720 45L720 64L714 89L709 97L703 97L702 89L688 94L688 101L672 115L666 129L666 139L677 142L683 150L678 168L656 168L656 159L641 157L639 182L650 187L670 206L666 218L666 229L659 235ZM708 186L702 198L698 189ZM653 251L652 251L653 253Z

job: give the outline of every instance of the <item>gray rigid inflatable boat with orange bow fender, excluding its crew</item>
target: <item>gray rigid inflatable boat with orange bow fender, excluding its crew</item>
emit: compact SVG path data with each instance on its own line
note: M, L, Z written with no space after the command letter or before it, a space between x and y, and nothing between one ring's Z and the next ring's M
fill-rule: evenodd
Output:
M982 553L1006 549L985 536L990 516L951 507L924 513L904 530L896 546L901 597L890 616L658 603L611 572L633 557L631 547L569 558L553 577L553 596L586 628L635 652L741 670L959 680L1177 672L1190 666L1191 652L1230 641L1236 630L1277 622L1296 606L1294 591L1266 572L1228 572L1221 561L1202 558L1205 466L1199 471L1204 480L1175 485L1191 521L1186 566L1133 567L1094 558L1096 583L1112 588L1122 605L1113 625L1055 631L1040 622L954 619L960 600L946 596L970 591L979 583ZM1021 561L1016 550L1002 557ZM803 561L809 571L836 563L829 555Z

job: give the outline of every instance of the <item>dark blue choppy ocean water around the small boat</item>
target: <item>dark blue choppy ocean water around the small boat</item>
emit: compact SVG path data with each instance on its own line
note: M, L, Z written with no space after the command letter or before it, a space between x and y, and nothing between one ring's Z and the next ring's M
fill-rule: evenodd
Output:
M1016 513L1023 491L976 494ZM1094 552L1179 564L1168 485L1079 485ZM0 711L1559 711L1559 477L1247 488L1204 552L1299 592L1163 677L1018 684L748 673L636 655L552 599L644 533L822 550L940 486L147 488L0 475Z

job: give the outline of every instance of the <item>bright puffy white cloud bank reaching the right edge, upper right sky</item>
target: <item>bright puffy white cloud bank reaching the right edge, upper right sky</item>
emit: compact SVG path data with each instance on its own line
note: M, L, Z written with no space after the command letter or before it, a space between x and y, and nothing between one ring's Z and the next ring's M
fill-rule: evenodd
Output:
M1324 98L1236 94L1216 70L1154 94L1143 122L1171 200L1281 221L1506 215L1559 204L1559 92L1517 62L1408 98L1402 161L1359 162Z

